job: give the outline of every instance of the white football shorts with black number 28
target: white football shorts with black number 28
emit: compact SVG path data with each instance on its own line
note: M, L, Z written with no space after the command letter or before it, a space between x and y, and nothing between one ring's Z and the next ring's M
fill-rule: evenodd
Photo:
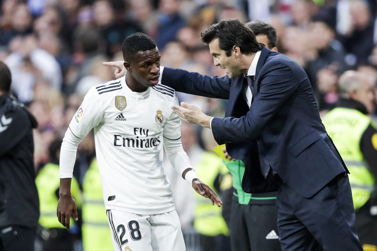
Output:
M115 251L186 251L175 210L156 215L106 212Z

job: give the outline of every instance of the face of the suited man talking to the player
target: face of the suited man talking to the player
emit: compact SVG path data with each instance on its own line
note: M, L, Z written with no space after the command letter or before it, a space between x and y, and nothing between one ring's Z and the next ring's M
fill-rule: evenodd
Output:
M242 74L242 68L239 65L237 53L232 49L231 55L228 57L225 50L221 50L219 47L218 38L212 40L209 44L211 55L214 57L215 66L219 66L221 69L226 69L226 74L230 78L238 77Z

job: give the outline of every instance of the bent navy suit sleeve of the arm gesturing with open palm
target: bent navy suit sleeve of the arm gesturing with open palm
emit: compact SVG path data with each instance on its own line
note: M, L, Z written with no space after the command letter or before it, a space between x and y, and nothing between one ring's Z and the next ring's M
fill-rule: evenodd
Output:
M307 78L298 65L283 61L269 61L263 69L268 70L261 76L259 92L247 114L241 118L212 120L212 132L219 145L258 139L297 86Z

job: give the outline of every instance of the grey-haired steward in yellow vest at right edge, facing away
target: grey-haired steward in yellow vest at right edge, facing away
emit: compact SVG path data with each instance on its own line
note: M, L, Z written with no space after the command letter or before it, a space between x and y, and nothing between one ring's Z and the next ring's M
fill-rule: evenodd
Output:
M350 171L360 242L365 251L377 251L377 129L367 116L371 86L361 73L348 71L339 87L341 99L323 117L323 125Z

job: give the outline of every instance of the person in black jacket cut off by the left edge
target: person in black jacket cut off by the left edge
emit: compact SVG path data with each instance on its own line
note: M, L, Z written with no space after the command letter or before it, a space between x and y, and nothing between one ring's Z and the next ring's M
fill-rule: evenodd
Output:
M32 132L37 121L10 94L11 80L0 61L0 251L33 251L39 218Z

